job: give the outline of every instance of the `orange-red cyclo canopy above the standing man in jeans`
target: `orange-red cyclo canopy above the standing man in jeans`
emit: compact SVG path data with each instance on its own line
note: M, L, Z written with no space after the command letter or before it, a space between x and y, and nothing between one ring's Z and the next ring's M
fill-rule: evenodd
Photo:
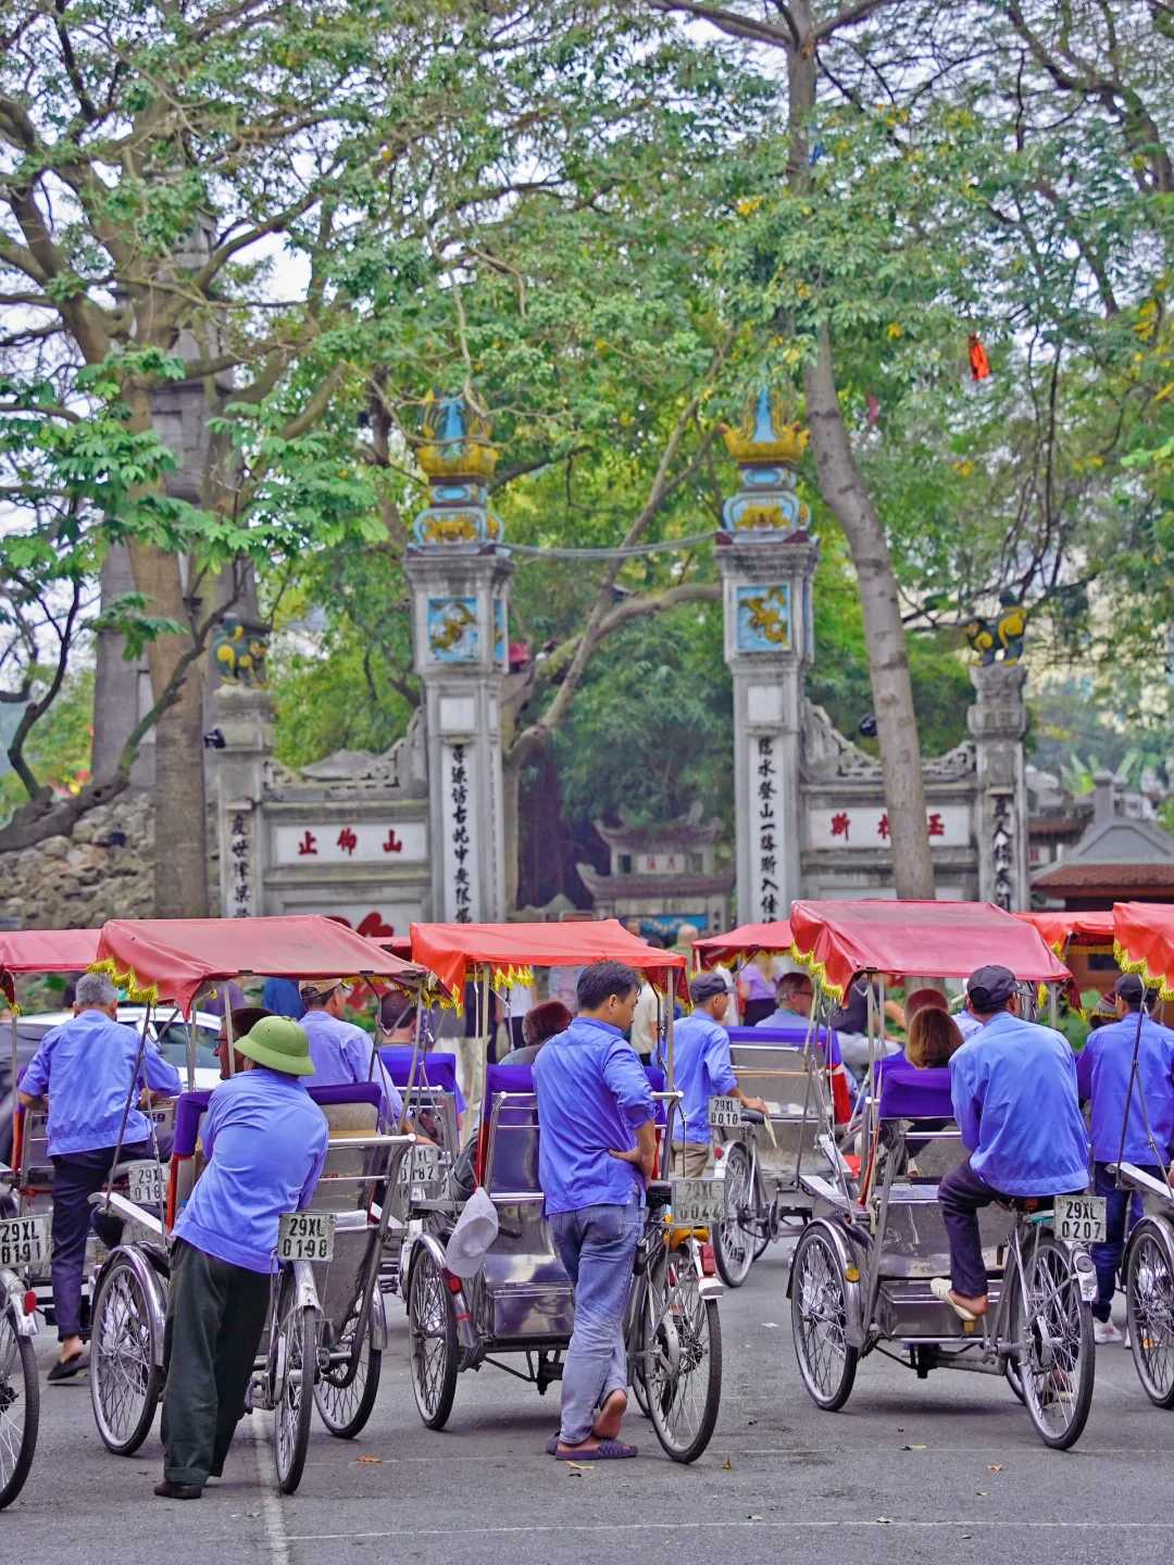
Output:
M413 923L412 956L460 998L470 967L502 977L524 967L585 967L625 962L642 973L678 969L684 956L648 945L618 919L573 923Z

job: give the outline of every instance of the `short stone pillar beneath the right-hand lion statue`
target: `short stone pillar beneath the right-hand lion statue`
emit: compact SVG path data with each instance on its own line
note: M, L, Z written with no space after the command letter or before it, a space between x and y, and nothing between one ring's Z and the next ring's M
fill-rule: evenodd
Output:
M1027 707L1022 664L971 668L978 700L966 721L978 765L978 895L1010 912L1032 905L1027 867Z

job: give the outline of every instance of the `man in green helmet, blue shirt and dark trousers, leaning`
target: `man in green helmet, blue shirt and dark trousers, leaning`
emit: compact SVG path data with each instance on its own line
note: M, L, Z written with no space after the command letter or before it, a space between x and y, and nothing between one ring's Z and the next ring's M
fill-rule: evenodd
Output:
M236 1053L244 1070L211 1094L200 1131L208 1164L175 1224L163 1499L199 1499L224 1471L265 1330L280 1216L310 1205L326 1163L326 1116L301 1080L315 1069L301 1024L268 1016Z

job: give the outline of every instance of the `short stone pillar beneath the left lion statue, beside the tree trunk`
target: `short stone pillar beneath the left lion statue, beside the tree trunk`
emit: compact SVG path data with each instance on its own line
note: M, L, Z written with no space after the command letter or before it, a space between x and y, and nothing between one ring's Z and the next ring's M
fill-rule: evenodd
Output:
M225 681L213 696L211 798L221 862L221 916L265 912L265 833L260 829L265 765L272 754L269 692Z

